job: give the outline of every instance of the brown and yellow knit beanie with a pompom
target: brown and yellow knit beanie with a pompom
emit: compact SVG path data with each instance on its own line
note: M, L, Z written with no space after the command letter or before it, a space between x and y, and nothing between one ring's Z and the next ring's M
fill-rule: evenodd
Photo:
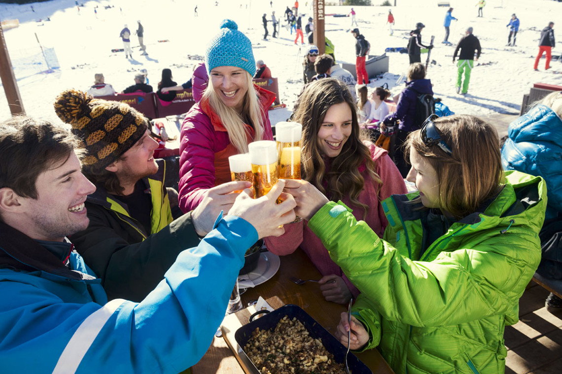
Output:
M148 128L148 119L129 105L94 99L78 90L58 95L55 112L84 141L84 164L96 168L105 168L119 159Z

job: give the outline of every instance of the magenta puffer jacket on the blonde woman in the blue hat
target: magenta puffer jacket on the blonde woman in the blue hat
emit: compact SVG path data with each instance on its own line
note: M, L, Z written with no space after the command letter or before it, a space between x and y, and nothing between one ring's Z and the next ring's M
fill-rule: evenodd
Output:
M206 190L230 182L228 158L238 154L209 100L202 100L207 81L205 65L200 64L192 78L193 98L198 102L189 109L180 132L179 207L184 213L199 205ZM253 87L265 113L262 140L273 140L268 109L275 100L275 94L256 85ZM250 143L254 130L250 125L246 126Z

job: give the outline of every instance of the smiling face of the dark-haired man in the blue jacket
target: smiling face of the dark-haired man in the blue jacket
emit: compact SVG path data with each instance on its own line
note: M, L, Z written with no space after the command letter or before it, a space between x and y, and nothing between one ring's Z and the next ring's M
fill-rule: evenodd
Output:
M30 238L61 242L65 236L88 228L84 201L96 187L80 172L72 152L65 163L40 173L35 182L37 199L21 198L25 234Z

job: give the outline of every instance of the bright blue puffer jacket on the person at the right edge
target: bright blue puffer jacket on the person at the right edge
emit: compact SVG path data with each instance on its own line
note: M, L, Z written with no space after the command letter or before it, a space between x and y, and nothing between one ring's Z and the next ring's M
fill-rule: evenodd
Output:
M546 105L537 105L509 124L501 149L505 170L541 176L546 181L546 218L562 212L562 119Z

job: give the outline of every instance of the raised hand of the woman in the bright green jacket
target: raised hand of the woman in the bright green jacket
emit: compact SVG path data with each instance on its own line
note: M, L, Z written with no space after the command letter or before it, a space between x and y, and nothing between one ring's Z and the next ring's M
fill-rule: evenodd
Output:
M294 197L297 204L294 213L306 220L310 220L329 201L316 187L301 179L285 179L283 191Z

